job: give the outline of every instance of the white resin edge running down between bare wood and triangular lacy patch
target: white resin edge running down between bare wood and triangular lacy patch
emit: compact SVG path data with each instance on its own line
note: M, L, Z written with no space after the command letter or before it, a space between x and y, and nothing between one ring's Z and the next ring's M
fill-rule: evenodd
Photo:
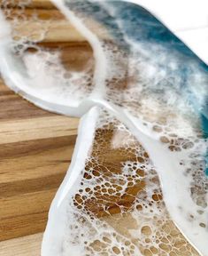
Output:
M81 118L72 162L50 206L49 220L42 240L42 256L59 255L58 244L64 240L65 207L67 206L65 196L72 196L74 188L77 188L74 185L80 182L86 159L90 156L98 115L99 108L94 107Z

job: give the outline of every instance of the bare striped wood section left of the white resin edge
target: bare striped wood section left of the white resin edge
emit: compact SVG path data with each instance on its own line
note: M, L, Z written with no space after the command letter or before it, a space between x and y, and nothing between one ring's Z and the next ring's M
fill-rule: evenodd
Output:
M28 235L45 228L78 123L35 107L0 82L0 241L23 237L1 242L1 256L40 255L42 236Z

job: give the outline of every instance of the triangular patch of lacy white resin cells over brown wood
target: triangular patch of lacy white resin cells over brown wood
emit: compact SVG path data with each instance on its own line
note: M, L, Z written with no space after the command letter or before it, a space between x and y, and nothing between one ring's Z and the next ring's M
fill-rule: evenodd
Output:
M148 153L105 111L75 191L61 255L198 255L166 211Z

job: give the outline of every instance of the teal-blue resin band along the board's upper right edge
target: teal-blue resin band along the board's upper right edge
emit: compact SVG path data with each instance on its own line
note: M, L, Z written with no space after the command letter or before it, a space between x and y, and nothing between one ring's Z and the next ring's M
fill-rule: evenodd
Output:
M207 138L208 104L205 103L202 105L202 101L199 100L200 92L197 92L197 84L191 84L190 82L190 77L193 74L199 74L204 77L204 81L206 82L204 86L207 93L203 95L203 101L208 102L208 67L204 61L200 60L186 44L181 42L177 36L174 36L150 12L137 4L131 4L125 1L106 1L102 4L102 1L92 3L86 0L65 0L65 3L73 12L78 13L78 15L81 13L84 17L90 16L94 20L102 23L111 33L116 44L122 47L122 49L125 49L127 54L130 52L131 45L127 42L126 38L136 44L159 45L161 46L159 48L161 49L160 51L163 54L165 53L166 56L168 56L169 52L173 53L178 60L176 68L168 67L159 58L158 65L166 70L169 77L177 77L177 87L174 83L169 83L169 87L163 88L163 90L161 88L157 89L156 87L155 92L165 93L166 90L176 90L180 95L179 97L193 107L196 115L199 118L201 116L201 129L204 132L204 138ZM110 12L112 10L113 12ZM160 52L157 53L159 56ZM193 86L196 87L195 92L193 92ZM205 173L208 175L208 155L205 158L207 162Z

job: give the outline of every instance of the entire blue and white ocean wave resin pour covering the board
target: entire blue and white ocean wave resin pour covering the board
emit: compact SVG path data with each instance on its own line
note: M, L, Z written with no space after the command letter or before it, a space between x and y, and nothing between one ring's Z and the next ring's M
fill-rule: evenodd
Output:
M72 63L44 41L51 20L21 28L30 3L20 25L6 3L0 16L6 84L84 115L42 255L208 255L207 66L139 5L52 2L90 45Z

